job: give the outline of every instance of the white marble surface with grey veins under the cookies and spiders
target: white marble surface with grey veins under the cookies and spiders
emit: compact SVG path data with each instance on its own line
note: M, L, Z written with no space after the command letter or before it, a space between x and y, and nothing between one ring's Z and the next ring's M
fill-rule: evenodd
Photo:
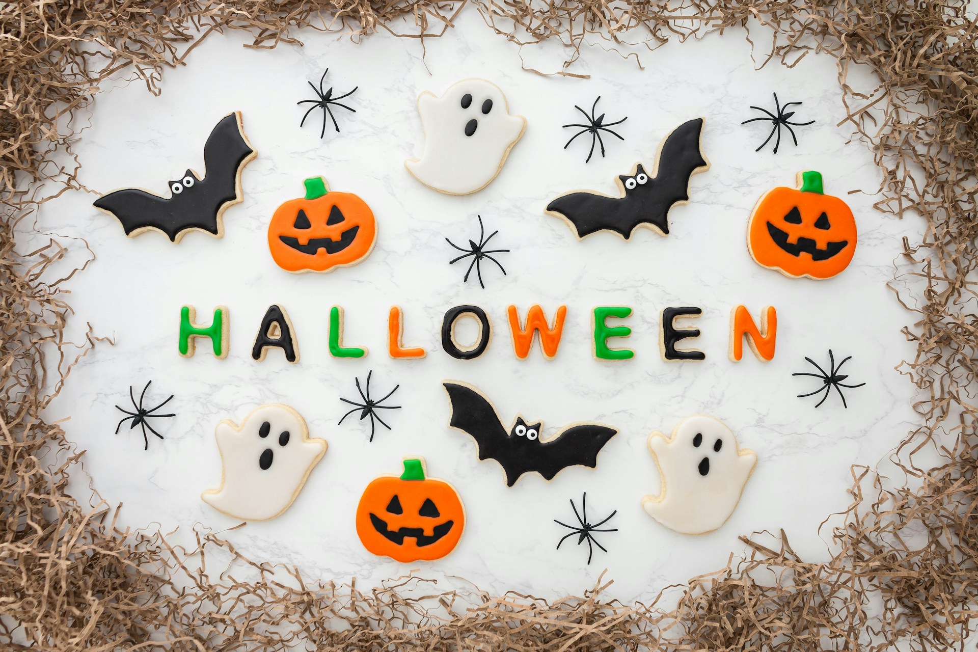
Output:
M518 51L473 13L460 22L462 29L425 42L424 59L417 40L384 33L356 45L307 31L300 34L305 47L274 51L244 49L241 34L215 35L190 55L189 65L166 70L159 97L120 79L90 114L79 116L78 126L89 125L77 144L84 161L79 179L96 192L136 186L163 193L165 182L187 167L200 170L209 130L234 109L243 111L258 152L244 170L244 203L225 214L224 239L200 233L178 245L156 233L126 239L115 220L91 206L95 195L69 193L42 208L41 229L85 238L97 256L70 282L72 330L90 323L116 342L74 369L50 408L52 418L71 415L67 436L86 451L94 487L110 503L124 503L123 525L158 523L164 532L234 526L200 500L220 479L214 426L222 418L240 420L259 404L283 402L305 416L312 436L328 440L329 451L289 511L227 537L253 559L295 563L314 578L355 576L369 584L421 568L493 591L558 595L592 587L607 568L612 595L641 599L721 567L732 550L742 550L737 537L756 530L783 528L801 554L825 556L817 529L849 503L850 464L885 457L912 422L911 383L894 370L911 356L900 333L911 315L885 283L900 237L916 239L919 229L872 210L880 177L867 147L850 143L846 126L835 126L842 110L834 60L812 55L794 69L755 70L743 34L729 30L722 38L663 47L644 57L644 70L594 49L575 70L590 79L541 77L521 70ZM342 132L320 140L315 116L299 128L303 109L295 102L311 97L306 81L318 80L327 66L337 92L360 89L351 98L357 112L336 113ZM422 146L415 101L423 90L441 93L467 76L500 85L528 126L487 189L442 196L403 166ZM796 119L817 123L798 129L797 148L782 142L777 155L770 146L755 153L765 123L740 122L756 116L749 105L771 106L773 91L782 101L804 102ZM598 95L607 119L628 116L620 126L625 141L607 139L607 155L585 164L586 139L563 151L572 132L560 125L577 121L573 106L589 108ZM712 167L692 178L692 201L673 209L668 238L640 230L630 241L599 234L578 242L563 222L543 214L548 198L567 190L613 192L615 175L637 160L650 166L662 136L699 115L706 117L703 150ZM769 188L792 185L801 169L821 170L826 192L846 198L857 216L856 258L834 280L789 280L756 265L744 245L754 202ZM313 175L370 203L378 244L356 267L293 276L273 264L266 229L275 207L301 196L302 180ZM476 214L499 229L495 244L512 249L501 258L508 276L485 268L485 289L462 283L465 270L449 267L454 250L444 240L475 237ZM230 307L227 360L215 360L206 347L191 360L177 355L184 303L201 316L217 304ZM301 348L298 365L276 352L261 363L248 356L271 303L289 311ZM441 315L460 303L484 307L496 326L487 353L472 362L451 359L439 347ZM540 303L548 314L568 306L555 361L537 350L527 361L514 358L509 303L523 309ZM729 312L737 303L755 315L761 306L777 306L774 362L761 364L746 351L742 362L728 360ZM427 348L425 359L387 357L392 304L404 307L405 340ZM367 358L330 357L333 305L345 308L347 344L369 347ZM629 320L635 359L592 358L590 311L597 305L635 308ZM660 359L659 311L676 305L703 308L698 345L705 362ZM817 381L791 372L808 370L804 356L826 360L829 348L855 356L845 371L867 383L849 392L848 410L834 396L818 410L815 398L795 398ZM373 443L364 423L336 424L347 409L339 397L354 397L354 376L370 369L377 391L400 383L394 403L404 406L385 414L393 430L378 429ZM600 454L597 469L570 468L550 483L531 475L507 488L499 466L478 461L473 442L447 427L445 378L479 386L505 418L518 412L542 419L547 433L595 419L620 434ZM138 390L151 379L148 401L173 393L168 407L178 416L156 422L165 440L154 438L144 452L135 432L112 433L121 416L113 406L127 406L129 385ZM642 509L642 497L658 488L649 432L668 433L691 413L723 419L740 445L759 456L731 520L701 537L666 530ZM397 472L402 456L426 457L429 473L453 482L465 500L467 532L455 552L436 562L380 559L354 531L363 488L379 474ZM83 500L90 498L88 481L75 473L72 490ZM608 552L596 552L590 566L587 550L573 541L554 550L564 530L553 519L572 518L567 501L580 500L582 492L592 515L618 510L611 524L619 532L600 539Z

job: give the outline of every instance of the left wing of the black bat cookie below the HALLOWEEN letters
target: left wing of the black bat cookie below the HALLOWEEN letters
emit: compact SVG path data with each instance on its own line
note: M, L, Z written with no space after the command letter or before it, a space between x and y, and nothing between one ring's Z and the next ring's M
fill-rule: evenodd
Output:
M512 486L519 474L511 478L513 449L510 433L503 426L499 414L486 397L471 387L454 382L443 383L452 402L452 419L449 425L475 440L479 459L495 459L506 470L507 481Z

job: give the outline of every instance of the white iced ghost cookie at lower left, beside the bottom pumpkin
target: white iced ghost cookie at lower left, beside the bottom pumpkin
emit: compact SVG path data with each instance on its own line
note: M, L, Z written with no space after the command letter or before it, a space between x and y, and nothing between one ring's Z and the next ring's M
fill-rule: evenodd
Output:
M221 454L221 486L200 499L245 521L275 518L298 496L326 440L309 439L305 419L280 404L261 406L242 424L224 420L214 432Z

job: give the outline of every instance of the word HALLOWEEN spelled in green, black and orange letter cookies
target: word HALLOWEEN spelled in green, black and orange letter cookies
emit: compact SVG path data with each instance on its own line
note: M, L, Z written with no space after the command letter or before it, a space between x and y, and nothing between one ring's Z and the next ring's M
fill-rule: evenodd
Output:
M669 307L662 310L659 317L659 352L662 359L674 360L705 360L706 354L689 347L689 340L698 337L698 328L690 322L702 314L700 308L691 306ZM629 360L635 357L635 351L620 345L612 347L608 340L628 337L632 328L618 322L609 324L610 320L624 320L632 314L628 306L599 306L592 313L592 330L594 333L593 353L597 360ZM534 341L540 345L540 352L547 360L556 357L563 334L563 324L567 317L567 306L557 307L554 318L547 319L544 309L539 305L530 306L525 319L520 317L516 306L507 309L510 325L512 351L516 358L525 360L533 349ZM478 326L478 335L470 344L458 341L455 334L456 326L463 319L474 320ZM210 340L214 355L225 358L228 355L228 331L231 325L227 306L218 306L209 325L196 322L196 312L193 306L180 309L180 334L178 349L180 355L190 358L194 355L196 338ZM387 318L387 354L391 358L416 359L423 358L427 352L420 346L405 346L403 342L404 311L399 306L391 306ZM778 338L778 312L768 306L761 311L760 326L754 321L745 306L735 306L731 311L730 349L728 355L733 362L743 357L743 343L747 342L750 350L761 361L767 362L775 357L775 342ZM445 311L441 322L441 347L448 355L458 360L478 358L489 347L492 340L492 322L484 310L478 306L455 306ZM330 355L333 358L363 358L367 355L366 347L345 346L343 344L343 309L333 306L330 309ZM280 305L272 305L265 312L251 347L251 358L256 361L265 359L271 349L280 349L289 363L299 361L299 347L295 332L289 321L289 313Z

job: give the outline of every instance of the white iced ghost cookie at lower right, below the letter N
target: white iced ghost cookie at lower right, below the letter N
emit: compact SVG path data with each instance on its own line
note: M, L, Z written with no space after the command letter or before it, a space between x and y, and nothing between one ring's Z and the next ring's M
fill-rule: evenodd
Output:
M727 425L695 414L679 422L672 437L648 436L648 449L662 478L658 496L646 496L648 515L684 535L712 532L727 522L757 464L757 454L737 448Z

